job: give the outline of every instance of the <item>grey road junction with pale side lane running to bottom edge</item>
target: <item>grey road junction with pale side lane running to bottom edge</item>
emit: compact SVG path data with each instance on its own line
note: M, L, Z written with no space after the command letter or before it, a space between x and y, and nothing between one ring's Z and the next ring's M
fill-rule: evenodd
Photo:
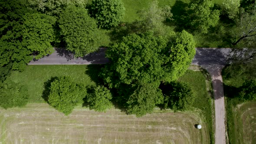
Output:
M225 103L221 70L226 65L231 49L198 48L192 65L206 69L213 83L215 104L215 144L226 144Z

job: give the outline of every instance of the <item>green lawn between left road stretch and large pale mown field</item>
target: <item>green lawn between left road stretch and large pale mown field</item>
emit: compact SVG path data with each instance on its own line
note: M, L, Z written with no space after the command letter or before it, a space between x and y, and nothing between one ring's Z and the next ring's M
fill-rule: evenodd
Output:
M13 71L9 79L28 88L29 102L44 102L44 83L51 77L70 76L75 82L95 85L91 77L97 77L93 74L97 74L101 67L102 65L28 65L23 72Z

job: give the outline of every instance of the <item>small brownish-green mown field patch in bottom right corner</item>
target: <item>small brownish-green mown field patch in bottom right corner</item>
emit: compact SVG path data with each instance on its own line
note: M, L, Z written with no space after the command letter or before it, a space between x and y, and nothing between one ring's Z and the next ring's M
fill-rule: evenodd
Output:
M234 144L256 144L256 102L250 101L233 108Z

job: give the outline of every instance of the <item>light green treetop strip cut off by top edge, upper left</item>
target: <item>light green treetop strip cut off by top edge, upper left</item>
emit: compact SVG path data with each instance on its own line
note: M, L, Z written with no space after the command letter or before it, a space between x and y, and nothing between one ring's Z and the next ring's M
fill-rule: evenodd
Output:
M70 5L85 8L87 0L27 0L29 8L51 16L58 16Z

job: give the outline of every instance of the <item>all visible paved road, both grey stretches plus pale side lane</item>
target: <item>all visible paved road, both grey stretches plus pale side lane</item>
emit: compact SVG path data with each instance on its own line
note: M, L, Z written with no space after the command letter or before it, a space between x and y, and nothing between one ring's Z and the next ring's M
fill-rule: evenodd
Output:
M212 78L215 99L215 143L226 144L225 105L221 70L226 65L227 56L231 49L197 48L196 51L192 65L200 65L209 72ZM52 55L32 61L29 65L87 65L107 62L109 61L105 58L104 48L78 59L75 59L71 52L56 49Z

